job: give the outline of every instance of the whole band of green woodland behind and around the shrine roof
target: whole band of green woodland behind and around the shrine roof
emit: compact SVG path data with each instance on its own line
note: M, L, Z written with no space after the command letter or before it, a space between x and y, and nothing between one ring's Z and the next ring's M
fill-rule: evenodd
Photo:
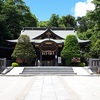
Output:
M98 50L94 48L100 39L100 1L93 0L92 3L95 5L94 11L88 11L86 16L78 17L77 20L71 15L59 17L52 14L48 21L38 22L24 0L0 0L0 46L8 46L6 40L17 39L22 27L74 27L80 39L91 40L85 52L98 57Z

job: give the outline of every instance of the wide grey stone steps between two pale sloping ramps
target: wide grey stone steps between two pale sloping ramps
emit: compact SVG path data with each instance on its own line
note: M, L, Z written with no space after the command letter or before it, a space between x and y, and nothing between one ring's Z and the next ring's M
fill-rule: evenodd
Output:
M25 67L22 75L76 75L72 67L40 66Z

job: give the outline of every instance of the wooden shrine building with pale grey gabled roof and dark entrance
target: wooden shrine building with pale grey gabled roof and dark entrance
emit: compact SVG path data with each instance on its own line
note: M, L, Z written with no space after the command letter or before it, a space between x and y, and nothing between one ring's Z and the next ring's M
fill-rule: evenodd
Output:
M42 66L55 66L62 63L60 52L64 46L66 36L75 35L81 49L90 40L80 40L74 28L34 28L24 27L21 35L28 35L30 42L35 48L37 59ZM8 40L10 43L17 43L16 40Z

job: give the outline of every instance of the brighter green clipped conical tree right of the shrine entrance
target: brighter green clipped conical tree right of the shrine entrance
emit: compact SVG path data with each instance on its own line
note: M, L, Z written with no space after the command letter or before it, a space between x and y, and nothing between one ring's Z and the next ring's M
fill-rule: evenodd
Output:
M65 59L66 64L70 65L73 57L80 57L80 47L75 35L68 35L64 42L64 47L61 51L61 56Z

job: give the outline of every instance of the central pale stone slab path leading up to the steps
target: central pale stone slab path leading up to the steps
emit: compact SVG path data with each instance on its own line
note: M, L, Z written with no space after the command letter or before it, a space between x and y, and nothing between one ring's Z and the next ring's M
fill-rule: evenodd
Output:
M58 76L38 76L25 100L72 100Z

